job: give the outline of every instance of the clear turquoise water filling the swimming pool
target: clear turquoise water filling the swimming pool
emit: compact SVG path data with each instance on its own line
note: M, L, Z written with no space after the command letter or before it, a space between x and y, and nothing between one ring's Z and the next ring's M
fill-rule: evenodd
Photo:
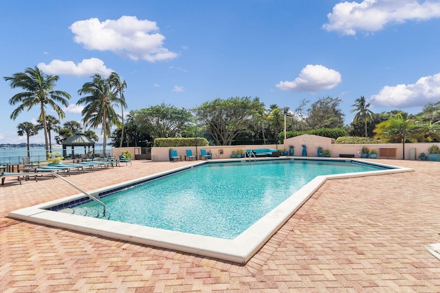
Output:
M377 169L346 161L207 163L100 200L109 220L234 239L316 176ZM101 207L72 209L93 216Z

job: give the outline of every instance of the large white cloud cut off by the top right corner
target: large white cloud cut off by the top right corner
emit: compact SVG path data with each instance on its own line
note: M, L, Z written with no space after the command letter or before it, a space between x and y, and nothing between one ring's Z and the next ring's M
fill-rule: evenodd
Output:
M355 35L358 31L376 32L388 23L422 21L440 17L439 1L417 0L364 0L341 2L327 14L329 23L322 27L345 35Z

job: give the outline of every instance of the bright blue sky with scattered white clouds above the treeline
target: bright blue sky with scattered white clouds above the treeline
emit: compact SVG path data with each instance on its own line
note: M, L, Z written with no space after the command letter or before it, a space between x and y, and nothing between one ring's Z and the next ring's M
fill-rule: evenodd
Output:
M375 113L440 99L439 0L5 1L0 25L1 77L59 75L56 89L72 95L62 123L80 121L91 75L111 71L126 81L127 111L236 96L294 110L330 95L349 124L361 95ZM25 142L17 125L39 117L36 107L9 119L19 91L0 82L0 143Z

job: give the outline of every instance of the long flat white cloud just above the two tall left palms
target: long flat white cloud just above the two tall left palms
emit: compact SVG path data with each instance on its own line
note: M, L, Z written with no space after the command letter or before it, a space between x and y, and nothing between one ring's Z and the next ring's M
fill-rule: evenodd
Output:
M113 71L107 68L104 62L98 58L84 59L78 65L73 61L52 60L48 65L39 63L37 66L45 73L60 75L91 76L99 73L108 76Z

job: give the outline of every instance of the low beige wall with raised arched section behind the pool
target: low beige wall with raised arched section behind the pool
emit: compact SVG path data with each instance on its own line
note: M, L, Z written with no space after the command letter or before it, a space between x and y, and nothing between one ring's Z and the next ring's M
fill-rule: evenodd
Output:
M354 154L355 158L360 158L360 150L364 145L367 148L372 149L375 148L377 152L379 152L380 148L395 148L396 156L395 157L384 157L382 159L402 159L402 144L401 143L358 143L358 144L335 144L335 139L330 139L329 137L319 137L318 135L309 135L304 134L298 137L292 137L290 139L286 139L284 144L278 145L278 149L280 150L289 150L290 145L294 145L294 156L301 156L303 152L303 148L301 145L307 145L307 156L318 156L318 147L321 147L323 150L331 150L332 157L339 157L340 154ZM405 143L405 159L410 159L410 149L415 148L415 158L419 159L419 154L424 152L428 154L428 148L433 145L440 143ZM236 151L237 149L245 150L251 149L263 149L263 148L272 148L275 149L276 145L209 145L203 147L197 147L197 153L200 154L200 149L210 150L212 152L212 159L229 159L232 151ZM123 150L129 150L130 148L122 148ZM121 149L121 150L122 150ZM133 149L133 148L131 148ZM192 154L196 154L196 150L194 147L178 147L173 148L173 150L177 150L177 154L182 156L182 160L185 158L185 150L192 150ZM115 149L113 149L115 150ZM151 148L151 160L152 161L168 161L168 153L170 148ZM223 151L223 154L221 154ZM133 150L130 150L133 152ZM116 156L115 152L113 155ZM119 156L119 154L118 154ZM134 155L133 155L134 158ZM378 155L378 159L381 157Z

